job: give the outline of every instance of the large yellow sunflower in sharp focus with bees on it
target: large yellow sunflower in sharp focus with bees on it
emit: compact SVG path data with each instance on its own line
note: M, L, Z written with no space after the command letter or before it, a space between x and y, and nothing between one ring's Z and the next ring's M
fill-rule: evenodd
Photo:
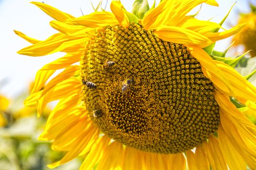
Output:
M112 1L112 12L82 17L32 3L59 33L15 31L33 44L18 53L66 52L39 69L24 102L40 115L59 100L39 139L66 154L49 168L84 156L81 170L256 169L256 126L237 107L255 112L256 88L212 48L243 25L218 32L187 15L215 0L136 0L132 13Z

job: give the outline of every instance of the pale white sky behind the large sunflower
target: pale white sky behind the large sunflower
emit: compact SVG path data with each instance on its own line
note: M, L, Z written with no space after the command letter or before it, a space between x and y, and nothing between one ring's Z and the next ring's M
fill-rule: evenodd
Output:
M94 6L97 6L98 1L44 0L43 2L63 12L79 17L82 14L92 13L91 2ZM105 0L103 1L105 2ZM255 1L251 0L251 2ZM29 46L30 43L14 34L13 30L19 30L39 40L44 40L50 35L57 33L49 25L49 22L53 19L29 2L30 0L0 0L0 94L9 98L13 98L24 89L27 89L39 68L64 55L64 53L58 52L42 57L31 57L16 53L20 49ZM121 0L121 2L127 11L131 11L132 0ZM212 21L219 22L236 0L217 0L217 2L219 7L203 4L197 18L203 20L211 19ZM249 11L246 2L248 0L237 0L235 7L223 25L224 28L228 29L236 24L238 12ZM149 4L152 3L153 1L149 0ZM198 8L193 10L192 13L197 12ZM230 41L230 39L219 41L216 50L224 51L229 46Z

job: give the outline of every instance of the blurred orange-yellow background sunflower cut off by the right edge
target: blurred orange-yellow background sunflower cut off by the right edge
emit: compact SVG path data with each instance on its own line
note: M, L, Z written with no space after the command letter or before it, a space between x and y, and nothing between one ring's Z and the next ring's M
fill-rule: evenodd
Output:
M250 51L251 56L256 56L256 6L251 5L251 12L248 14L240 14L238 23L246 23L243 30L233 37L235 45L243 45L245 50Z

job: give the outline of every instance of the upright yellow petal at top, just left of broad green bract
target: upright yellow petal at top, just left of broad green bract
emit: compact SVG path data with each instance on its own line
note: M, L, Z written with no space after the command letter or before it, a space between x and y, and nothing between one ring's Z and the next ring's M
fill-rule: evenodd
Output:
M125 9L120 1L111 1L110 9L123 27L129 26L129 18L125 14Z

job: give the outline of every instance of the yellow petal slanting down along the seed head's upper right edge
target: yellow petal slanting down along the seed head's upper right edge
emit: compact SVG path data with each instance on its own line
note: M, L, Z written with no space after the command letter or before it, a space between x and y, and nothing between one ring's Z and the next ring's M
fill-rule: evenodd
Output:
M213 60L209 54L198 47L190 47L188 49L201 64L204 75L209 78L219 89L224 89L225 91L229 92L229 94L233 94L233 88L230 85L230 82L227 80L224 72L218 68L215 60Z

